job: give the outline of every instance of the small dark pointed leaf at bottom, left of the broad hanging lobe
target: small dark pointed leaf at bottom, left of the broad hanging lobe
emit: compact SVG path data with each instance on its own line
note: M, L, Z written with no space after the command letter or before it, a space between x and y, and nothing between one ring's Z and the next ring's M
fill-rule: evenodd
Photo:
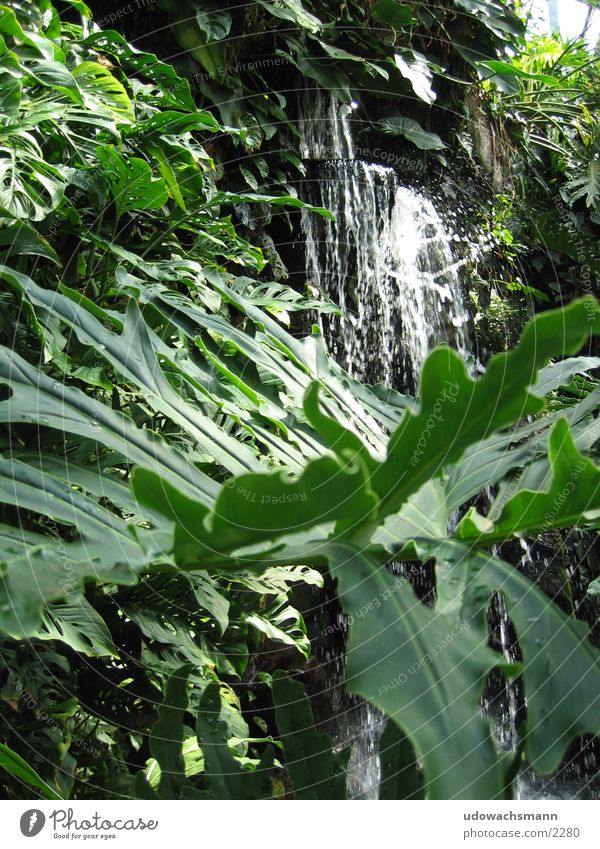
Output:
M381 763L380 799L423 799L423 773L415 750L393 719L388 720L379 741Z

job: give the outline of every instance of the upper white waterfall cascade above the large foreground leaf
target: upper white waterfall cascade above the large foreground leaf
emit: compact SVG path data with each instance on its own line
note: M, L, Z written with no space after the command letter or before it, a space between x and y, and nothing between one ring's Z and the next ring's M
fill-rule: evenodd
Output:
M336 221L303 211L307 274L344 314L322 319L323 332L353 377L412 388L440 342L468 357L465 260L455 259L454 236L427 197L402 185L393 168L356 158L351 113L340 114L322 93L310 109L301 150L322 160L314 200Z

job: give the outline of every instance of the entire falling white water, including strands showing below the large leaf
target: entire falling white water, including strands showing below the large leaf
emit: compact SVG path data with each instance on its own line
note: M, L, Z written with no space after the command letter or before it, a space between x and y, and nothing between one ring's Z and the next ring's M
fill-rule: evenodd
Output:
M342 317L320 319L331 353L352 376L404 392L414 392L427 353L441 342L476 369L460 282L465 260L456 258L459 237L431 199L403 185L393 168L357 157L349 108L315 91L305 96L300 112L301 151L312 177L306 191L311 202L336 216L330 221L302 213L307 279L343 312ZM531 558L529 549L523 557ZM501 597L492 615L498 648L510 659L513 645ZM341 614L339 621L342 628ZM334 654L324 662L331 666L333 661L334 678L341 683L343 652ZM383 718L368 704L344 701L342 689L332 688L334 742L340 748L352 745L351 797L375 799ZM489 713L501 748L514 749L519 698L511 684L502 684ZM565 793L577 795L572 787ZM518 795L560 798L561 790L540 789L526 773Z

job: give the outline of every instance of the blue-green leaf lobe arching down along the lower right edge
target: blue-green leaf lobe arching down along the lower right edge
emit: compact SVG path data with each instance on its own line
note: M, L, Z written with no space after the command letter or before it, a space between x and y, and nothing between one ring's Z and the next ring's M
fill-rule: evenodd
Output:
M504 596L523 656L526 753L534 769L550 774L577 736L600 732L600 651L588 627L511 564L452 541L428 547L430 556L466 571L462 618L481 640L492 594Z

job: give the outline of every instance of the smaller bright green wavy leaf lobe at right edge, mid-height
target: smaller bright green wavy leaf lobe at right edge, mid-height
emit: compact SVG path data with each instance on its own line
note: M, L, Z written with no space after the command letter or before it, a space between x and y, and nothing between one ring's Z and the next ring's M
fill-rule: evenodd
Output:
M471 509L456 529L456 537L487 545L515 534L597 522L600 469L579 453L565 419L559 419L550 433L548 459L552 480L547 489L517 492L494 522Z

